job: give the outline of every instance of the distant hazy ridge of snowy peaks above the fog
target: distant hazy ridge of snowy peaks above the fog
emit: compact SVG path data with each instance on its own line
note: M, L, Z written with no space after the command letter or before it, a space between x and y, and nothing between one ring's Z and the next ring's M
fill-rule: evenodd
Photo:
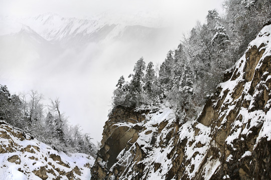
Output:
M101 15L102 16L102 15ZM103 19L103 20L102 20ZM128 23L123 22L117 23L114 20L104 20L105 17L92 17L92 19L81 19L76 17L62 17L56 13L44 13L34 17L27 18L11 18L4 17L1 19L3 26L8 26L6 30L2 32L2 35L9 34L11 32L19 32L24 26L29 26L33 31L38 33L40 36L48 41L61 41L63 39L72 39L77 36L81 38L89 39L90 41L97 37L97 33L105 33L105 38L114 38L129 26L142 26L144 28L161 28L160 26L145 26L139 22ZM0 22L1 22L0 21ZM8 24L8 25L7 25ZM10 27L10 29L8 29ZM14 29L12 29L14 27ZM21 29L20 29L21 27ZM110 28L111 27L111 28ZM115 28L116 27L116 28ZM106 32L108 31L108 32ZM112 32L111 32L112 31ZM109 34L110 32L110 34Z

